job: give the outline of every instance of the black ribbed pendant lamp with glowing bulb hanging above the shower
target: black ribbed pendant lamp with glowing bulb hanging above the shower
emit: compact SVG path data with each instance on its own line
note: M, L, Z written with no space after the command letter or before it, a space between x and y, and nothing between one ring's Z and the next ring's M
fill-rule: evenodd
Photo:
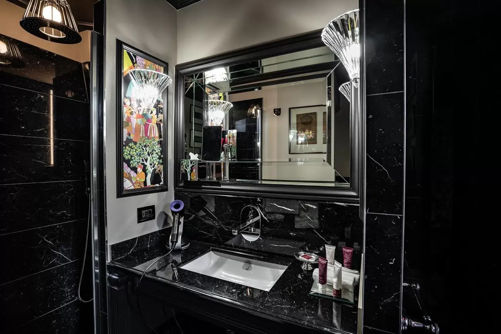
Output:
M82 41L66 0L30 0L21 27L44 40L77 44Z

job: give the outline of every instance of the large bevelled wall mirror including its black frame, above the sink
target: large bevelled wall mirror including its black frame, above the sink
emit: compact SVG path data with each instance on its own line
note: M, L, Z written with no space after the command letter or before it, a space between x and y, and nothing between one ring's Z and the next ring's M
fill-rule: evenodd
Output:
M359 92L320 33L177 67L176 190L357 200Z

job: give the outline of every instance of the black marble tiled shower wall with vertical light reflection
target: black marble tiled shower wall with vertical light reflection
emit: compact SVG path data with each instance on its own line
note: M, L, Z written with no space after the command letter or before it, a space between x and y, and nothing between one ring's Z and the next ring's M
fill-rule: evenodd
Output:
M88 64L13 42L26 66L0 67L2 332L89 333L92 303L77 298L89 208ZM91 272L89 264L85 299Z

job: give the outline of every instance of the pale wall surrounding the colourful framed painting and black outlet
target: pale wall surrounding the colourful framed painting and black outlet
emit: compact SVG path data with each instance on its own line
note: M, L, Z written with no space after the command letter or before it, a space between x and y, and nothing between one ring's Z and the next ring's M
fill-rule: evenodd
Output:
M169 63L168 75L174 79L176 62L176 11L163 0L106 0L106 215L108 244L117 243L169 226L165 213L174 198L173 115L174 85L168 87L168 157L169 191L117 198L116 187L116 40L132 45ZM155 205L156 220L137 223L136 209Z

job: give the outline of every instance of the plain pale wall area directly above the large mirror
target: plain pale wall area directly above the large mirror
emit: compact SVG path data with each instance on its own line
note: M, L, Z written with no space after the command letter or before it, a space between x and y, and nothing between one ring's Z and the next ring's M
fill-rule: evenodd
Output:
M178 64L324 28L356 0L203 0L178 11Z

